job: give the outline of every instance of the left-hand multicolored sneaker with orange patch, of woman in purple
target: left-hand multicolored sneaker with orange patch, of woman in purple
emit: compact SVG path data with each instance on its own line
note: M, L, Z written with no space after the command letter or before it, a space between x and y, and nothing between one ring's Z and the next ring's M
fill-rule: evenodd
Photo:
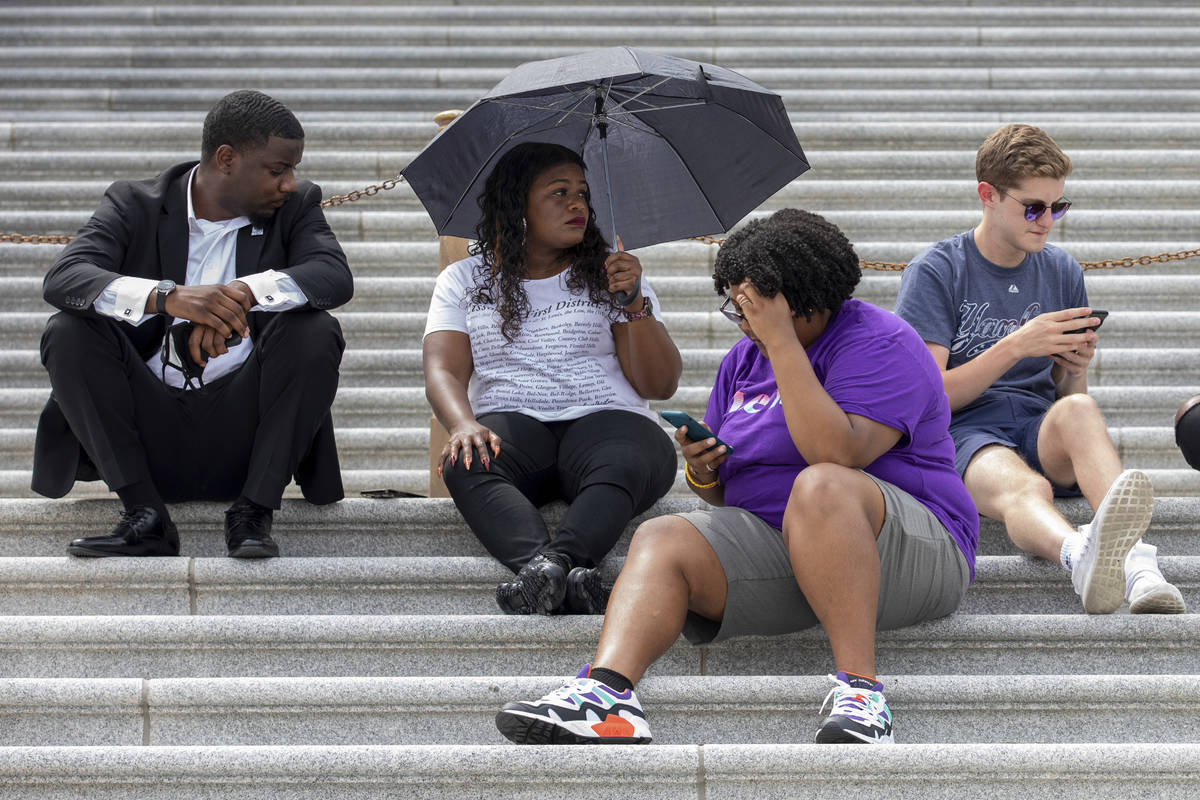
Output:
M592 680L592 664L539 700L508 703L496 727L518 745L644 745L650 726L634 690Z

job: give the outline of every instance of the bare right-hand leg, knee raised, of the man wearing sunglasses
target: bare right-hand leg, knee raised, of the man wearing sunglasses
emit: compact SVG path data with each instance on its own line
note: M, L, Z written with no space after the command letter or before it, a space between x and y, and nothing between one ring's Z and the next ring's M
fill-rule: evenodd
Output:
M1058 486L1079 483L1092 511L1121 474L1104 415L1087 395L1068 395L1046 411L1038 432L1038 461Z

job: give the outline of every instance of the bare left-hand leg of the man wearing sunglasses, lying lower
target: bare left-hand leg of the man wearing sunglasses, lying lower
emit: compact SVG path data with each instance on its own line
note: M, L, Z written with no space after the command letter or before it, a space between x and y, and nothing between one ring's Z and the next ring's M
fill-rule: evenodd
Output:
M1004 523L1014 545L1061 563L1062 542L1075 529L1054 507L1050 482L1030 469L1015 450L1002 445L982 447L967 464L962 482L979 513Z

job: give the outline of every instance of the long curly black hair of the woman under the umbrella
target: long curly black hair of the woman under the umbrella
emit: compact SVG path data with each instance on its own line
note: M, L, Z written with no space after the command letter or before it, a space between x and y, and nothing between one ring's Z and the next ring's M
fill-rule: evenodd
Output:
M570 163L584 169L580 154L558 144L527 142L504 154L479 196L482 216L475 225L475 241L469 252L482 255L475 269L475 287L470 301L480 305L496 303L500 315L500 332L511 342L521 333L521 325L528 317L529 296L521 281L526 277L526 204L529 187L551 167ZM596 215L588 203L588 224L583 241L562 253L569 264L566 288L587 291L588 299L610 308L616 320L619 308L608 294L608 276L604 270L608 257L608 243L596 227Z

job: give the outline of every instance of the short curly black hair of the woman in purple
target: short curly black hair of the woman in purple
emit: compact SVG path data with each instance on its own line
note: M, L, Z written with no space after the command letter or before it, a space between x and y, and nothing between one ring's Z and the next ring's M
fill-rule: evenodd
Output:
M713 270L718 294L750 281L766 297L782 291L804 317L841 308L862 277L854 247L838 225L799 209L782 209L730 235Z

